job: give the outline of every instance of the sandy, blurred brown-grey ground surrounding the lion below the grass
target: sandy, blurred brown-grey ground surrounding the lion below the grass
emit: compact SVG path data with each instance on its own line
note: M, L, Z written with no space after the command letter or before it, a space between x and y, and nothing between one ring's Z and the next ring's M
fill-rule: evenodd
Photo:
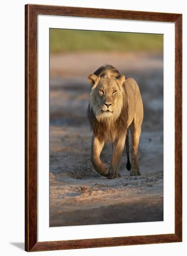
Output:
M90 63L91 62L91 63ZM140 86L140 176L107 180L90 162L87 75L109 63ZM50 66L50 226L163 221L163 59L153 54L59 54ZM102 160L110 164L111 145Z

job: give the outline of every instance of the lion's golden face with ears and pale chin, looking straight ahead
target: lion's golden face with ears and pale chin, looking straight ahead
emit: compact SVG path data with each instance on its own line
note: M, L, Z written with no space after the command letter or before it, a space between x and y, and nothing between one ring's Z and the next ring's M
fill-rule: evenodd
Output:
M90 107L93 108L98 121L104 119L116 120L123 105L122 84L124 76L119 79L111 77L98 77L95 74L88 76L88 81L92 85L90 93Z

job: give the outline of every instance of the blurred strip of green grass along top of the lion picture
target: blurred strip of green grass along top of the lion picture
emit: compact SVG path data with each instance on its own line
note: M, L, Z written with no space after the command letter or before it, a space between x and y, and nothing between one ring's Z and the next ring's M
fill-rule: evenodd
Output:
M50 51L163 51L162 34L50 29Z

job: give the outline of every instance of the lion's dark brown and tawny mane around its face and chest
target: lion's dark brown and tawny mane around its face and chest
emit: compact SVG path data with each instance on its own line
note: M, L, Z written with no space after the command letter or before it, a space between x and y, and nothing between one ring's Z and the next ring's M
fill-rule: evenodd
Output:
M120 78L119 71L112 65L105 65L99 67L95 72L95 75L101 77L110 78ZM96 97L94 97L95 89L91 88L89 106L87 109L87 115L90 122L93 134L98 137L100 141L114 142L118 137L126 134L127 131L127 120L128 120L128 104L127 104L127 91L125 89L124 83L122 86L122 99L119 98L117 101L117 106L115 106L116 111L109 118L96 118L93 109L97 108ZM120 111L120 113L119 113Z

